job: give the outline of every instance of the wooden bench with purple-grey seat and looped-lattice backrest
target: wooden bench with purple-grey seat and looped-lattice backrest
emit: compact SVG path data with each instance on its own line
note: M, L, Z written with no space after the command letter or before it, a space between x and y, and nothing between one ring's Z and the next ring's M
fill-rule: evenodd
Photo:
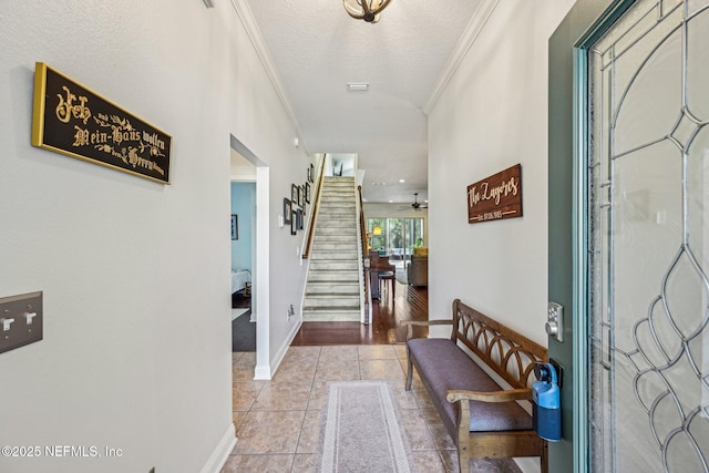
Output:
M405 321L411 390L415 367L431 401L458 446L461 473L471 459L540 456L547 473L547 443L532 430L532 417L515 401L532 400L534 362L546 348L508 327L453 301L452 320ZM412 338L413 326L452 325L451 338ZM473 361L474 353L512 389L503 389Z

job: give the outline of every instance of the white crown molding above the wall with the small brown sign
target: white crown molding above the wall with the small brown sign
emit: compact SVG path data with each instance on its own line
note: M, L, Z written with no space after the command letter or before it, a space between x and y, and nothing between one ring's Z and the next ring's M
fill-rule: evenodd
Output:
M431 110L435 106L435 103L448 86L451 78L453 78L453 74L455 74L455 71L461 65L461 62L463 62L465 54L467 54L467 51L470 51L480 33L485 28L485 24L492 16L492 12L495 10L495 7L497 7L497 3L500 3L500 0L481 0L473 18L471 18L467 27L465 27L465 31L463 31L460 41L455 45L455 49L451 53L443 71L441 71L441 74L435 82L435 86L423 107L424 114L428 115L431 113Z

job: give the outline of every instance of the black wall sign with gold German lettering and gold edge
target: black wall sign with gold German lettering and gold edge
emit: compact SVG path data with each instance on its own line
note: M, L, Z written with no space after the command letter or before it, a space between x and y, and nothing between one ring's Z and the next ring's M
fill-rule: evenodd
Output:
M172 137L38 62L32 145L169 184Z

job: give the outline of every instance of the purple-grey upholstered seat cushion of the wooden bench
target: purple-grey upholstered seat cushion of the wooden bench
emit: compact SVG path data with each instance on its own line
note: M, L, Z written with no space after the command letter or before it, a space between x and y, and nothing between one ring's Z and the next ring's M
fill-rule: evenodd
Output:
M451 438L458 438L455 405L448 402L448 390L499 391L502 388L483 371L452 340L419 338L407 342L417 368L435 409ZM531 430L532 417L516 402L470 401L471 432Z

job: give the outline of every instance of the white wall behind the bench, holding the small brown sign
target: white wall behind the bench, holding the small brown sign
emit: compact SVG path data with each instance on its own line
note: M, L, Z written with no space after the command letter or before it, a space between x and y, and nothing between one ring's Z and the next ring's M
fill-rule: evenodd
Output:
M429 114L432 319L460 298L546 346L547 40L572 4L501 0ZM467 224L466 187L516 163L524 216Z

